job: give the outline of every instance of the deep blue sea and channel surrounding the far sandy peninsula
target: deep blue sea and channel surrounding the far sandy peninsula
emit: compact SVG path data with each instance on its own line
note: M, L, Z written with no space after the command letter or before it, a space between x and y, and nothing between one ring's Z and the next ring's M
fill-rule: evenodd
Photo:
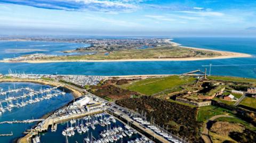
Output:
M222 51L242 52L256 55L256 38L174 38L174 42L184 46L217 49ZM29 48L33 41L19 41L22 48ZM74 44L74 43L72 43ZM0 51L6 47L17 45L14 41L0 42ZM33 44L36 45L36 44ZM70 48L68 43L54 48L56 43L44 42L47 46L38 46L52 51L62 51ZM53 46L51 46L53 45ZM74 45L73 45L74 46ZM78 44L78 47L81 46ZM17 47L19 48L19 45ZM38 52L40 53L40 52ZM13 55L13 53L11 53ZM10 53L2 53L1 57L11 56ZM180 74L191 70L203 70L202 65L212 64L212 74L230 75L238 77L256 78L256 58L229 58L220 60L202 61L170 61L170 62L65 62L65 63L0 63L0 73L7 73L9 69L26 73L58 73L58 74L83 74L83 75L136 75L136 74ZM214 66L218 65L218 66Z

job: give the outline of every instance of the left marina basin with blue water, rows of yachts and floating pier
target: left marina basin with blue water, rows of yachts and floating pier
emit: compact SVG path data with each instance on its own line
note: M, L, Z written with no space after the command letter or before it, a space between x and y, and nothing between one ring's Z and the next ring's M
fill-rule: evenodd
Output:
M15 85L15 88L14 88ZM9 89L22 89L18 92L10 92L7 93L10 97L16 98L23 96L23 90L25 94L28 94L29 91L25 88L29 87L29 89L33 89L34 91L52 89L53 87L47 85L40 85L38 83L30 83L30 82L1 82L0 87L2 92L9 91ZM27 88L28 89L28 88ZM53 88L53 90L59 90ZM30 91L31 92L31 91ZM62 90L59 90L62 92ZM53 91L53 93L55 93ZM44 93L45 96L46 92ZM65 98L63 98L65 96ZM33 96L33 100L37 95ZM42 94L38 94L38 98L43 97ZM6 96L0 95L1 101L5 100ZM27 104L26 106L18 106L15 104L16 100L12 100L14 107L12 107L11 111L6 110L2 115L0 115L0 134L11 134L12 136L1 136L1 142L13 142L13 140L24 136L23 132L26 132L27 129L31 129L37 122L42 121L40 119L45 114L50 113L54 110L57 110L59 107L67 104L71 100L73 100L73 96L70 93L66 93L65 95L53 96L50 99L40 100L39 102L35 102L33 104ZM23 101L26 103L30 99L29 97L23 98ZM21 103L22 99L19 98L18 102ZM10 103L10 102L9 102ZM5 108L7 105L6 102L2 103L2 106Z

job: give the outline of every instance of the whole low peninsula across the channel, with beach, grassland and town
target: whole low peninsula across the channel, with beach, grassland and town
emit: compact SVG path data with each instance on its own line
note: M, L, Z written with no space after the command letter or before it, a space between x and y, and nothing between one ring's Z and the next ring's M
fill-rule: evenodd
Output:
M73 56L31 54L7 58L0 62L123 62L123 61L196 61L221 58L251 57L249 54L184 47L172 39L80 39L89 47L79 47L63 53L81 53Z

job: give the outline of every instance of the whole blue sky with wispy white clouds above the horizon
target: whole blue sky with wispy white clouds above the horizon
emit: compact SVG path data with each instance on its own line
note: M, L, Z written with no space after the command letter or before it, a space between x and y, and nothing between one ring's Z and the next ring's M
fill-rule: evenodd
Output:
M2 35L256 36L256 1L0 0Z

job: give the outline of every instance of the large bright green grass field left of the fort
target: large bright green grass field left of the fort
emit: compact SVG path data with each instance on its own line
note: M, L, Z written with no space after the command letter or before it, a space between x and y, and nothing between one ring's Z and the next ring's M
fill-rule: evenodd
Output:
M140 92L145 95L158 94L159 92L173 92L181 90L180 86L194 82L193 77L185 77L172 75L164 78L150 78L135 81L129 85L122 86L122 88L132 91Z

